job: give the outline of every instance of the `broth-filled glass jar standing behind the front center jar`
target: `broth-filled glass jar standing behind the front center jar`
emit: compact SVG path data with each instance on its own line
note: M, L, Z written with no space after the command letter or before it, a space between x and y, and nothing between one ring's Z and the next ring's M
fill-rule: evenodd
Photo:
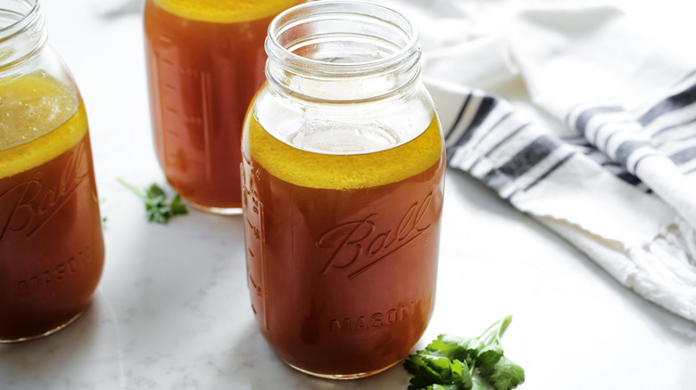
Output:
M300 0L147 0L145 53L154 146L190 205L241 214L244 113L265 77L270 20Z

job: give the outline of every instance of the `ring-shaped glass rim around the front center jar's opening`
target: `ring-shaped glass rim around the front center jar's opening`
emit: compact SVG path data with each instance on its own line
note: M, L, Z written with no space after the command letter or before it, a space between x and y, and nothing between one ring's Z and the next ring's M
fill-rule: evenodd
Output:
M381 14L378 12L381 12ZM320 61L304 57L288 50L287 45L283 45L278 39L287 29L300 24L302 22L301 18L309 17L311 19L317 19L322 15L326 16L338 13L366 17L378 20L381 23L391 24L394 26L394 29L401 30L402 34L408 39L401 45L399 50L394 53L369 61L355 61L351 63ZM382 17L380 18L379 16ZM386 19L386 16L390 19ZM266 52L269 58L282 58L286 65L295 69L302 69L303 73L313 73L317 71L323 76L330 74L341 76L370 74L380 72L385 68L399 66L407 61L415 63L418 62L420 58L418 28L416 28L408 18L401 12L397 12L385 5L355 0L322 0L319 2L304 3L279 13L278 16L270 22L268 37L266 38Z

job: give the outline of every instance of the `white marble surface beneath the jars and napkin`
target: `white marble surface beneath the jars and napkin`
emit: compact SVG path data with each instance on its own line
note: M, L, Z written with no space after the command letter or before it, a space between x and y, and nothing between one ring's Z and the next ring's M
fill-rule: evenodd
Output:
M0 389L405 389L401 366L336 382L275 358L253 321L239 217L193 211L167 226L145 222L141 202L116 182L164 184L137 2L111 14L94 0L44 3L50 42L87 103L106 267L79 321L0 345ZM696 323L623 288L456 171L448 171L441 246L435 314L419 346L443 332L476 336L512 314L503 346L526 369L520 389L696 388Z

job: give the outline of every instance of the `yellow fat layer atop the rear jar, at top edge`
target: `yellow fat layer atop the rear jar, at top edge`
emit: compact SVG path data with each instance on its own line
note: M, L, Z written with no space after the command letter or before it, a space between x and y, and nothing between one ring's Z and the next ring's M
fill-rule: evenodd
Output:
M190 20L236 23L276 15L298 0L153 0L163 10Z

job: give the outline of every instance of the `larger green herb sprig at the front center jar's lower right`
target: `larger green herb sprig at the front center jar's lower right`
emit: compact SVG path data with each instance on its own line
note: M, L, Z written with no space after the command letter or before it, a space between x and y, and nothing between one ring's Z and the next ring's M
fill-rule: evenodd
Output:
M403 367L413 375L409 390L485 390L475 378L495 390L510 390L525 381L525 370L503 356L502 332L507 316L479 337L440 335L425 350L411 354Z

